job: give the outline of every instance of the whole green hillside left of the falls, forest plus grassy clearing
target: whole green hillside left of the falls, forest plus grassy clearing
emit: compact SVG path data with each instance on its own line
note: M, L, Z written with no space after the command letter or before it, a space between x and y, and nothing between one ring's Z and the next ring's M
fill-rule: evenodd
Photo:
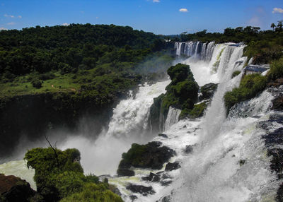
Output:
M4 30L0 47L0 97L85 90L105 97L137 84L140 73L166 71L173 60L160 52L171 47L160 36L115 25Z

